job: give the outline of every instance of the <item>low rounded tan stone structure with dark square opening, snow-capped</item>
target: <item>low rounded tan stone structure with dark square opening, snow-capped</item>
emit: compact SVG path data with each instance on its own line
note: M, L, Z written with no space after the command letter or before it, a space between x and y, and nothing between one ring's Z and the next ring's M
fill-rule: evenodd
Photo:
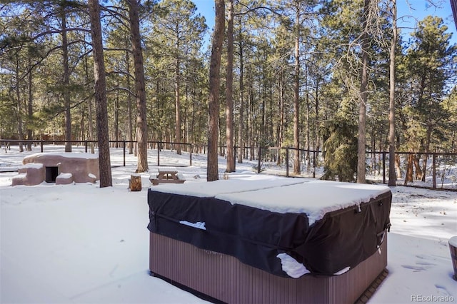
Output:
M38 185L46 181L65 185L99 180L99 157L91 153L37 153L26 156L13 177L12 186Z

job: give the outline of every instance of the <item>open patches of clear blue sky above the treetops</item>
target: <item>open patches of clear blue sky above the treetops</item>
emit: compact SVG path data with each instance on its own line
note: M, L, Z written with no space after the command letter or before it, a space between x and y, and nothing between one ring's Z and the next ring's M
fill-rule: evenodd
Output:
M206 24L210 31L214 27L214 0L193 0L197 6L199 14L205 16ZM457 29L453 21L451 2L449 0L431 0L436 5L431 5L430 0L397 0L398 5L398 26L402 27L403 35L408 35L417 20L422 20L428 15L439 16L443 23L448 26L448 31L452 33L451 43L457 44ZM401 18L403 16L403 18ZM409 36L403 38L407 41Z

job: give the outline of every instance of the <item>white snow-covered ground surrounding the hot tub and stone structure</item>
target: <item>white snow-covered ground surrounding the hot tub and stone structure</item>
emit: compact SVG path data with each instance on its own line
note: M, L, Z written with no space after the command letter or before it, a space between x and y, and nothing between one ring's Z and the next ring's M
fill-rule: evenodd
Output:
M17 168L16 147L0 154L0 171ZM56 150L61 151L61 147ZM79 151L80 148L74 148ZM45 152L53 152L46 147ZM113 149L111 163L123 163ZM114 186L96 184L11 187L16 172L0 173L0 303L204 303L149 276L149 222L143 190L130 192L136 158L112 169ZM179 166L186 183L206 181L206 157L161 151L161 165ZM184 165L186 167L181 167ZM237 163L229 179L259 178L256 163ZM9 170L5 170L9 169ZM220 159L221 179L225 160ZM392 188L389 275L369 303L457 302L448 240L457 235L457 192Z

